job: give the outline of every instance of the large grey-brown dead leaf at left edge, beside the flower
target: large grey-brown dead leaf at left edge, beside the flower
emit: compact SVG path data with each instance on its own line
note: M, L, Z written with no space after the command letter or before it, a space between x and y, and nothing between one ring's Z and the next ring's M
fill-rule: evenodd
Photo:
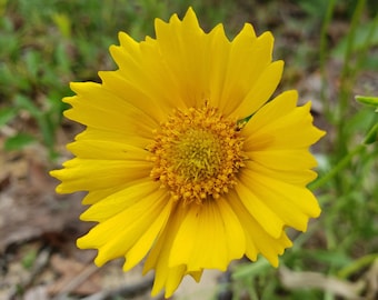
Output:
M0 252L12 243L64 232L72 239L87 231L79 222L79 197L58 200L51 193L31 193L23 189L0 193Z

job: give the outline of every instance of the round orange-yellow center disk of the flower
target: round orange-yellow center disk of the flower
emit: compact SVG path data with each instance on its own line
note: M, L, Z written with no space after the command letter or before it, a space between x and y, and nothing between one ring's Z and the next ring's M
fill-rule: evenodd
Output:
M176 110L148 148L155 162L151 177L183 203L217 199L236 184L242 144L237 122L216 108Z

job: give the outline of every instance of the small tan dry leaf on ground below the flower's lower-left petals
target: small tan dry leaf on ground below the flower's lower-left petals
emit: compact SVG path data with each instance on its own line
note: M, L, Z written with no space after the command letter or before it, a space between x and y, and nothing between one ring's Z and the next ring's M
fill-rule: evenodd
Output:
M54 254L51 257L51 266L60 278L48 287L50 296L92 294L101 290L101 277L97 272L99 269L92 263L83 264L71 258Z

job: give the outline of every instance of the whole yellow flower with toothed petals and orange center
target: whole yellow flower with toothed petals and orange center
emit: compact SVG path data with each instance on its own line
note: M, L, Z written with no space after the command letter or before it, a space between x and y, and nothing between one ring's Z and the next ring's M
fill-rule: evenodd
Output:
M155 27L141 42L119 34L119 69L102 83L71 83L64 116L87 128L51 174L59 193L88 191L81 219L98 224L78 247L98 249L98 266L125 257L125 271L147 257L152 294L170 297L183 276L245 254L278 266L285 228L320 214L306 184L324 132L296 91L268 102L284 68L270 32L247 23L230 41L221 24L205 33L192 9Z

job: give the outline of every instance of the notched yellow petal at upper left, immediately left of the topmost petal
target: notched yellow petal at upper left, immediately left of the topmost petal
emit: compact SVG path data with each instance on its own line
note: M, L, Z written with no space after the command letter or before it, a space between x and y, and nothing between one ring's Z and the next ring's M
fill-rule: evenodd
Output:
M122 40L121 46L113 46L110 50L120 69L100 72L103 87L113 90L155 120L162 121L175 107L186 108L185 101L180 101L177 73L168 68L156 40L149 38L141 42L137 56L130 56Z

